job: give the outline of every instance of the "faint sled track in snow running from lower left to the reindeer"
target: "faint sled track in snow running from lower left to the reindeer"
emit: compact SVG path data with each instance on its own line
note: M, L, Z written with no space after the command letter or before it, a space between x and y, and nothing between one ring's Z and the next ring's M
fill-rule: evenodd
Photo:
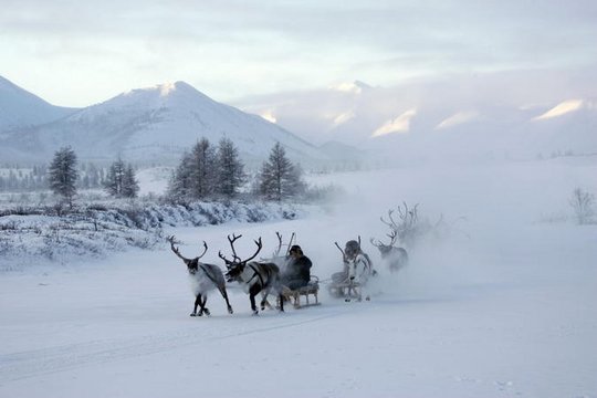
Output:
M238 331L239 325L232 322L230 325L226 325L226 327L219 326L218 328L213 327L207 331L197 329L196 333L186 331L135 338L93 341L88 343L69 344L51 348L4 354L0 355L0 385L40 375L76 369L84 366L101 365L158 354L184 346L266 333L320 322L344 314L343 311L335 310L336 311L332 313L320 314L318 316L315 314L316 316L306 320L301 317L300 321L289 320L286 322L276 323L276 320L283 318L271 317L268 318L268 321L273 322L270 322L268 326L260 327L260 325L249 325L249 327L245 327L240 332ZM247 326L247 324L243 325Z

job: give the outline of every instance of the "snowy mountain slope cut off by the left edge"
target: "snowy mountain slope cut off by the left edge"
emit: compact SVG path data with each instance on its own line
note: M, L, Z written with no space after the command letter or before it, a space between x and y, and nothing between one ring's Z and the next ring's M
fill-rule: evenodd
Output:
M0 135L8 129L56 121L75 111L51 105L0 76Z

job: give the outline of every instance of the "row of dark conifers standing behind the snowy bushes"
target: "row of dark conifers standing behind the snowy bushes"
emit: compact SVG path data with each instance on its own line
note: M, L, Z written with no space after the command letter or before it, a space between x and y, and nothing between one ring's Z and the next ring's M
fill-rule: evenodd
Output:
M46 178L50 189L72 207L80 170L76 154L70 146L54 154ZM114 198L135 198L139 192L133 165L122 159L108 167L102 186ZM248 186L250 188L245 189ZM268 160L250 178L232 140L224 137L213 146L203 137L182 155L170 177L165 199L190 202L232 199L243 195L282 201L300 198L305 191L301 167L287 158L280 143L272 147Z

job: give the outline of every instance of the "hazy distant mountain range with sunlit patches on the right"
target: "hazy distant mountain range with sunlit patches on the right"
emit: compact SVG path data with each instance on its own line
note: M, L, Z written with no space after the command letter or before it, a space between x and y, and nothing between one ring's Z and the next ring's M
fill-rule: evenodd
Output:
M565 81L569 86L558 85ZM572 84L570 82L574 82ZM533 88L533 90L531 90ZM452 76L394 87L362 82L237 102L313 143L396 157L597 153L597 87L546 72ZM290 105L292 104L292 105Z

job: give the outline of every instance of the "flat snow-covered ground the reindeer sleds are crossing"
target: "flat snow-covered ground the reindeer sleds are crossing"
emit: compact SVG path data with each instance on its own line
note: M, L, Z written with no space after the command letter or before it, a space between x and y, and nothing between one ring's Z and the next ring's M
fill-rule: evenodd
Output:
M347 197L293 221L170 229L223 266L275 231L296 232L327 279L334 241L362 235L380 276L370 302L251 316L211 294L189 317L186 268L166 245L0 274L1 397L597 397L597 226L567 220L575 187L597 192L591 158L418 167L313 177ZM390 275L369 243L402 201L446 222ZM242 254L241 254L242 255Z

